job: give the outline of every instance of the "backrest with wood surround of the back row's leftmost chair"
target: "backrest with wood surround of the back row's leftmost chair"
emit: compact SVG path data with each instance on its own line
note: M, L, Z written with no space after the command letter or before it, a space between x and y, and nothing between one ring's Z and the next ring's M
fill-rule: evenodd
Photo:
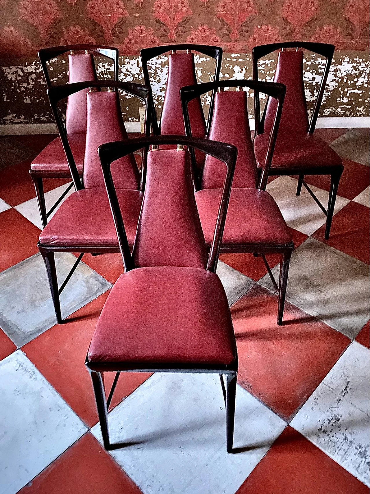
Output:
M38 52L46 86L52 86L48 61L69 52L69 82L96 81L97 75L93 53L108 57L114 62L114 80L118 81L118 49L110 46L65 45L43 48ZM71 94L67 101L66 129L68 134L86 133L86 91Z

